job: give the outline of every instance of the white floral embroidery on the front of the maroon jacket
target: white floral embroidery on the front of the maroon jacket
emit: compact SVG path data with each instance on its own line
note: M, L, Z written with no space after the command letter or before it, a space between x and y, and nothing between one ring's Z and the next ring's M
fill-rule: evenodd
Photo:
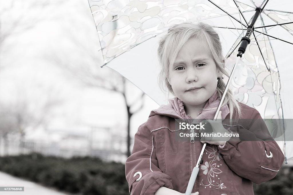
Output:
M216 189L224 189L226 188L226 186L224 186L224 183L222 183L222 180L220 180L220 182L216 182L216 177L218 177L217 174L221 174L223 171L219 169L220 165L217 165L217 161L220 161L221 159L223 159L222 154L219 152L219 150L217 149L217 146L213 145L213 146L207 146L206 149L206 154L208 154L208 158L211 158L211 161L209 162L205 162L205 165L201 165L200 169L203 170L203 174L207 175L207 181L208 184L204 184L202 180L202 185L205 186L205 188L207 186L211 187L214 186L216 187ZM216 161L216 162L215 162Z

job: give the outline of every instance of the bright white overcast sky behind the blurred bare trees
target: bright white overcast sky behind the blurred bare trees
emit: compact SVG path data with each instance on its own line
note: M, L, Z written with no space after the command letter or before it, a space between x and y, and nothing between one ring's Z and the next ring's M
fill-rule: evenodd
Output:
M15 20L19 20L19 28L13 28L1 45L0 101L6 105L26 101L36 114L41 114L38 108L42 102L50 98L58 101L50 111L48 129L125 127L125 104L119 94L85 87L49 59L54 55L64 55L69 62L69 57L83 59L82 54L76 54L79 48L71 41L72 37L84 42L85 47L91 46L98 55L98 36L88 2L52 1L43 8L29 2L15 5L1 15L1 32ZM70 52L74 56L68 55ZM98 71L108 68L100 65L96 63ZM135 86L129 89L139 93ZM158 107L147 96L144 102L142 111L132 118L132 135L147 120L151 109Z

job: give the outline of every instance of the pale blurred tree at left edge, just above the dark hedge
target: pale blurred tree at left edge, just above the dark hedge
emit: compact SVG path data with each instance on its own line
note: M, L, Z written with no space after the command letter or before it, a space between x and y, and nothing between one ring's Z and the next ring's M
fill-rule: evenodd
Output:
M32 85L18 86L11 93L13 98L0 102L0 136L4 140L4 154L8 155L8 134L20 134L19 148L22 152L25 130L46 127L54 108L62 103L57 89L41 85L37 92L32 92L28 89L30 87L33 88Z

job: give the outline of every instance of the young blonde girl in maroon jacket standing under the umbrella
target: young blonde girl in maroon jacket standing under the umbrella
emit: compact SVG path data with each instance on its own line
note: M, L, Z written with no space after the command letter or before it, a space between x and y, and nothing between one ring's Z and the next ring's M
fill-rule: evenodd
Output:
M158 55L161 81L176 98L151 111L138 128L125 163L129 192L184 194L204 142L207 147L192 194L251 195L252 182L275 177L284 161L282 151L258 111L237 102L231 91L218 118L239 119L236 125L221 126L242 136L228 141L176 137L182 131L176 120L214 118L225 89L222 76L229 77L217 32L204 23L173 25L161 39Z

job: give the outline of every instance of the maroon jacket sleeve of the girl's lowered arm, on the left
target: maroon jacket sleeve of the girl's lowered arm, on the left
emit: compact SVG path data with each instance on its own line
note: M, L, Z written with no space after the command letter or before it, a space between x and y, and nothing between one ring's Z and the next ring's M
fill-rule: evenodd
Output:
M142 175L141 179L139 174ZM154 194L163 186L173 189L171 177L159 169L154 138L145 123L134 136L132 155L125 163L125 175L131 195Z

